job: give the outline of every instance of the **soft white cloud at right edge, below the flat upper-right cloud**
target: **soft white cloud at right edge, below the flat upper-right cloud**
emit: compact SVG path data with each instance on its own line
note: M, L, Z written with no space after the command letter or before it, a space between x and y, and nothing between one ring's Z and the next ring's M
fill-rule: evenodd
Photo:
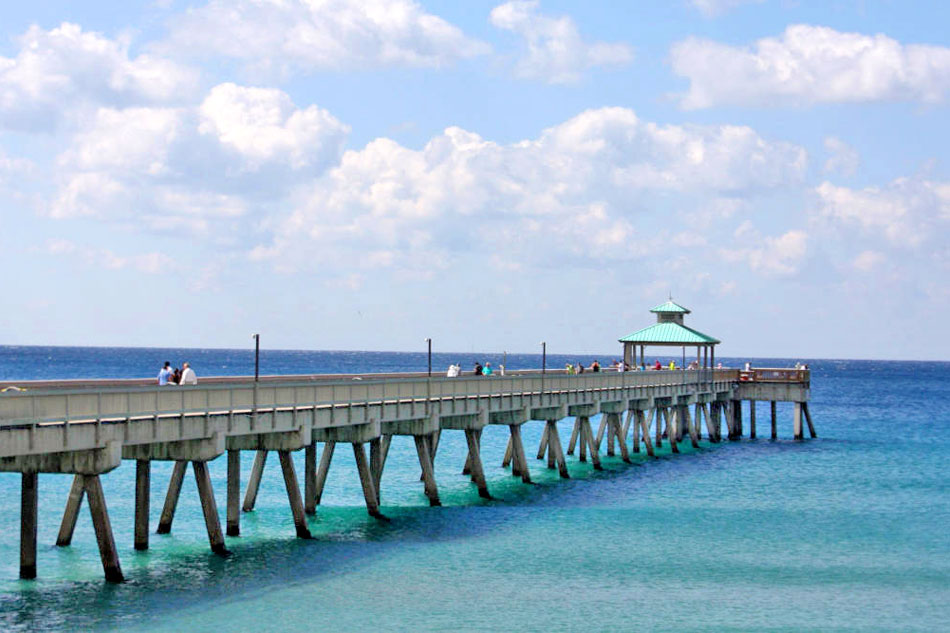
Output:
M831 228L858 227L897 247L920 246L950 220L950 183L898 178L886 187L850 189L824 182L815 193L818 218Z

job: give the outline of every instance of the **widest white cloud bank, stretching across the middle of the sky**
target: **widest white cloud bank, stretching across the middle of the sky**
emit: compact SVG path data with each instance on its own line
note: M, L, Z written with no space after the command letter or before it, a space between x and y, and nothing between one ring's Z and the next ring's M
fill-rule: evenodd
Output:
M301 190L254 257L417 272L484 250L522 262L625 260L653 239L638 235L643 197L797 183L804 162L801 148L746 128L657 126L624 108L509 145L459 128L419 150L378 139Z

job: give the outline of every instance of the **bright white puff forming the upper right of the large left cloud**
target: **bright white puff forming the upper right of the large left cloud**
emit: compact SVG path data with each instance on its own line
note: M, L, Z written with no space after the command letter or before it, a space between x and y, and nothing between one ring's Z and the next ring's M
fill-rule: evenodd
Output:
M350 131L317 106L297 109L280 90L232 83L215 86L200 114L200 132L216 136L253 167L279 160L300 169L335 160Z

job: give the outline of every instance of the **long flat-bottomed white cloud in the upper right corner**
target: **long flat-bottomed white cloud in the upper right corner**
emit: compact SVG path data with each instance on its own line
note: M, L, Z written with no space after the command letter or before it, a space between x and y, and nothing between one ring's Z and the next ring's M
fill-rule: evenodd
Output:
M689 79L681 106L942 102L950 48L886 35L798 24L749 48L691 37L673 45L673 70Z

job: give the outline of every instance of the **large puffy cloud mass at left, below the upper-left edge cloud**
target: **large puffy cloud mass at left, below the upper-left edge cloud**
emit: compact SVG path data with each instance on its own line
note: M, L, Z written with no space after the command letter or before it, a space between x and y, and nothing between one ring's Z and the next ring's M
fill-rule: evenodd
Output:
M335 164L348 131L279 90L234 84L190 108L100 108L58 158L48 213L236 238L242 218Z

